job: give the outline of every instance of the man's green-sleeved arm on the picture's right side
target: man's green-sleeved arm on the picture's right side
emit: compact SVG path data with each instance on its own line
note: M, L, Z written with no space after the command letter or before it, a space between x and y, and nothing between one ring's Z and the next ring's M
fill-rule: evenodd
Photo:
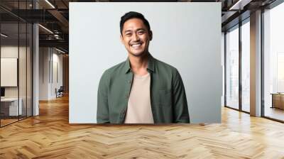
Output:
M175 123L190 123L185 87L178 70L173 83L173 110Z

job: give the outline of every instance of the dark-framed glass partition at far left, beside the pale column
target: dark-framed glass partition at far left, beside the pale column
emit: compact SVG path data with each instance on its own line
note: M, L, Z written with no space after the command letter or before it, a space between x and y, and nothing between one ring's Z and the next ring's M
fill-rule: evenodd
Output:
M32 1L0 1L0 5L31 9ZM23 13L26 13L23 11ZM32 116L32 24L0 9L0 126Z

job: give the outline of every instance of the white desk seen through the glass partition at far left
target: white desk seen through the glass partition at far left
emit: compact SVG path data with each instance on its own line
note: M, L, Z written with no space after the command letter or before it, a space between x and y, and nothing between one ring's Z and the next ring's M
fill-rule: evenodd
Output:
M23 99L20 98L19 102L20 104L18 105L18 98L1 99L1 111L6 116L22 115L23 114L23 109L22 109Z

